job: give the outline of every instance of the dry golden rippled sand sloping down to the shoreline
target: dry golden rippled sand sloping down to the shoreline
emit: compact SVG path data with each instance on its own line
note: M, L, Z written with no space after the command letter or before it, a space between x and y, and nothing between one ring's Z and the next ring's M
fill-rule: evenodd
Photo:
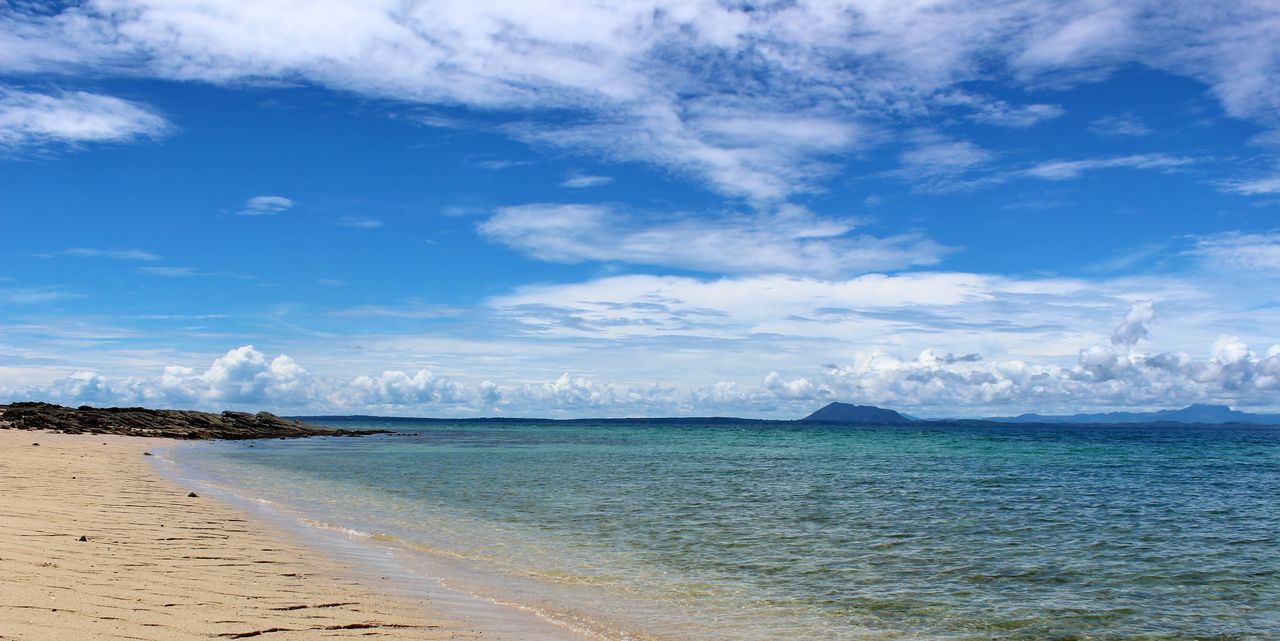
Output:
M480 637L188 496L168 443L0 430L0 640Z

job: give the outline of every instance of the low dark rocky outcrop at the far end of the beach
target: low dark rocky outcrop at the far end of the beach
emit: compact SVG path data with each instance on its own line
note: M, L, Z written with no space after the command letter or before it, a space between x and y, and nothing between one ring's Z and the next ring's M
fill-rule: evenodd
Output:
M79 408L50 403L0 406L0 429L52 430L63 434L115 434L165 439L300 439L306 436L362 436L385 430L335 430L280 418L270 412L193 412L142 407Z

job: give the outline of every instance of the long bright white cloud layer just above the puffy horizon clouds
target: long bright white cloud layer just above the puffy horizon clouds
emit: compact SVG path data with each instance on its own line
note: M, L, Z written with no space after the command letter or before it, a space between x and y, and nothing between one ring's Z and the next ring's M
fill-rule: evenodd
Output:
M964 273L868 274L844 280L625 275L526 287L492 299L490 306L527 331L547 336L698 336L751 343L786 336L804 345L788 349L820 354L824 345L901 349L945 335L956 351L998 344L1006 353L1044 358L1074 356L1075 342L1106 340L1112 328L1098 325L1100 310L1123 315L1130 301L1147 298L1172 308L1197 307L1207 297L1176 280L1100 283ZM1096 329L1082 334L1080 328ZM915 349L923 347L929 345ZM755 349L771 347L759 343Z

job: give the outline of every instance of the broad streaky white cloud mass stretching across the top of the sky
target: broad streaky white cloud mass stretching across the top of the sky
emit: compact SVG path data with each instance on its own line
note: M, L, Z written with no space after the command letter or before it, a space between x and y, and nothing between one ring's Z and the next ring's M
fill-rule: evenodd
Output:
M96 0L4 12L0 63L27 74L283 78L506 110L522 139L652 162L721 193L778 201L815 188L841 154L882 139L874 129L886 119L942 109L1029 127L1060 114L973 91L957 100L956 87L974 81L1070 84L1140 64L1194 78L1230 115L1275 128L1277 29L1280 9L1247 0L566 0L556 12L490 0L280 0L252 9ZM557 118L531 115L544 107Z

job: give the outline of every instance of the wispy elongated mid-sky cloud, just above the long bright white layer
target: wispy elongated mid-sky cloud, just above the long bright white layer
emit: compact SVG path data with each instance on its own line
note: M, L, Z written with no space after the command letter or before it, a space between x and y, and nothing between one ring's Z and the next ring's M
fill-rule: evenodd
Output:
M776 214L631 216L603 205L503 207L479 229L540 260L618 261L713 273L849 274L931 265L948 251L914 234L854 234L859 220Z

